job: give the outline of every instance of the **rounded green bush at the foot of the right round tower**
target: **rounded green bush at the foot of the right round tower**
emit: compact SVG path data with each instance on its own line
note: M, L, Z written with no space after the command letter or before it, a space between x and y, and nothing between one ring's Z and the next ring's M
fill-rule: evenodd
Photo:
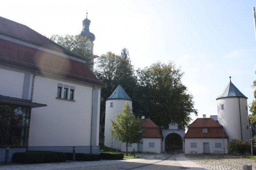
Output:
M250 144L247 143L245 140L240 141L237 139L232 139L230 144L227 146L227 149L230 152L238 152L241 155L245 154L246 152L250 152Z

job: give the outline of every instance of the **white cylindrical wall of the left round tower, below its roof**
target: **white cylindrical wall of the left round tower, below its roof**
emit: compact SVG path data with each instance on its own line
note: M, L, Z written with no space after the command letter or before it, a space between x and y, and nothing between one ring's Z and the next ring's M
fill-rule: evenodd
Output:
M113 102L113 107L110 107L110 103ZM112 141L112 136L109 133L109 129L112 129L111 121L115 122L116 114L122 112L124 103L128 102L130 107L132 107L132 101L113 99L106 101L106 113L105 113L105 129L104 129L104 145L109 148L115 148L121 150L121 143L119 141Z

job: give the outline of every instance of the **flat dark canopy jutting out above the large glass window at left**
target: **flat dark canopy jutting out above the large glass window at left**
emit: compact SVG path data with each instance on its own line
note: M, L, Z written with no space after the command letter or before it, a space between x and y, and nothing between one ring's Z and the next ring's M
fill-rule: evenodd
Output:
M30 100L25 100L25 99L20 99L20 98L13 98L13 97L2 96L2 95L0 95L0 103L22 105L22 106L28 106L28 107L31 107L31 108L47 106L46 104L33 103Z

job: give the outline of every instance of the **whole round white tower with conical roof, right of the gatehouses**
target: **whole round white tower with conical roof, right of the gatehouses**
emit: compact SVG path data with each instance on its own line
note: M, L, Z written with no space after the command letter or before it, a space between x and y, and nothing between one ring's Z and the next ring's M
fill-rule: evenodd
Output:
M232 139L250 141L250 127L247 109L247 97L231 82L217 100L218 121L228 135L228 142Z

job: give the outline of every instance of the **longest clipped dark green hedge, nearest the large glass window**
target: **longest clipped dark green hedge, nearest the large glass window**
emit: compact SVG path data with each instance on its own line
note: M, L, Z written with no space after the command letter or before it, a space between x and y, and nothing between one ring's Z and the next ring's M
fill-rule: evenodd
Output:
M51 163L64 162L67 154L63 152L50 151L28 151L13 153L12 161L16 163Z

